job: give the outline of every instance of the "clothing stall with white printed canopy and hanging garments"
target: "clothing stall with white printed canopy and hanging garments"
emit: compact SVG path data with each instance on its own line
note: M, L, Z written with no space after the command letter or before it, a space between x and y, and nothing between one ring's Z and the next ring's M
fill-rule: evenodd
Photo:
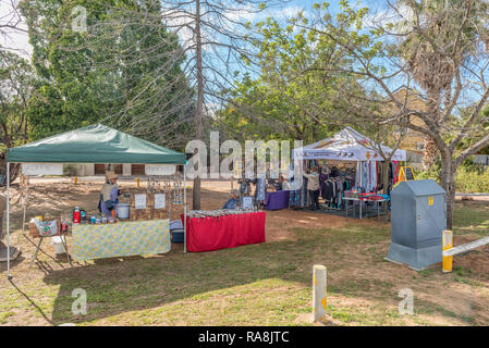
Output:
M391 156L389 173L382 172L381 153ZM292 157L295 163L299 162L308 167L320 166L319 195L327 209L344 210L349 208L349 201L352 201L359 206L358 216L362 217L362 207L365 202L371 199L375 206L378 206L380 202L388 201L388 198L378 197L378 195L360 198L357 196L377 194L381 188L383 175L392 175L391 185L395 184L400 163L406 160L406 152L399 149L394 151L384 145L375 144L360 133L346 127L332 138L294 149ZM321 165L321 162L327 164ZM331 162L335 164L328 165ZM345 163L345 166L339 167L338 163ZM374 196L377 197L372 198ZM306 183L299 189L291 191L290 197L292 208L306 207L309 199Z

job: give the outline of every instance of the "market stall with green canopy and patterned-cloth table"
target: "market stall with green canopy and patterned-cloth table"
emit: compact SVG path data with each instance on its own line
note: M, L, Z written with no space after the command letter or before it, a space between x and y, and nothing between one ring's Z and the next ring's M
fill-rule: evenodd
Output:
M181 192L174 198L184 206L184 214L186 214L185 154L96 124L8 150L8 248L10 248L9 173L11 163L23 163L30 167L49 164L57 169L62 163L131 163L152 165L156 169L163 167L163 172L169 166L175 170L176 165L183 165L183 183L173 183L178 185L173 191ZM166 211L161 207L158 211L156 207L161 206L161 198L164 201L166 191L159 188L158 185L158 188L151 187L151 192L140 190L131 192L129 203L133 208L131 222L122 221L117 216L90 216L85 212L85 224L83 224L83 211L82 214L80 214L81 209L76 214L74 212L73 217L76 217L72 224L73 258L87 260L168 251L170 249L169 219L162 219ZM96 204L97 202L94 202L94 206ZM8 276L11 277L9 259Z

